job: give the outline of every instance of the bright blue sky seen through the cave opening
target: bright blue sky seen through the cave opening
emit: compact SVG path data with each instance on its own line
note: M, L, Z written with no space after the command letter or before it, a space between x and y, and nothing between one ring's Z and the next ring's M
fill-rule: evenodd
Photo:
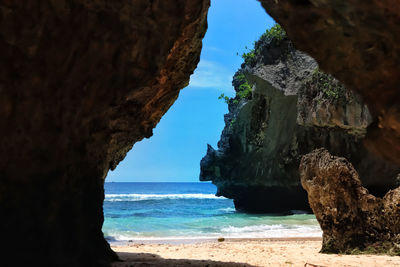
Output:
M255 0L211 0L208 30L200 63L178 100L153 130L136 143L107 182L197 182L207 144L214 148L224 127L227 105L221 93L233 96L232 76L274 21Z

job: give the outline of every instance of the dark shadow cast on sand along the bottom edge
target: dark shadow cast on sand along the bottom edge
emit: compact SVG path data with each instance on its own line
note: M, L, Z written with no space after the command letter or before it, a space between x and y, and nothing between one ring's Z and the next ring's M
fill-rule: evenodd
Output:
M253 267L247 263L223 262L211 260L192 259L164 259L157 254L151 253L128 253L118 252L121 262L114 262L112 267L128 266L197 266L197 267Z

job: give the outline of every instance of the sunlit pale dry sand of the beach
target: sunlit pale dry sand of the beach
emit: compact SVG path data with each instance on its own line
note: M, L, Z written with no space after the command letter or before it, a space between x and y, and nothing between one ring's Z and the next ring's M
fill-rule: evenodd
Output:
M113 246L124 262L113 266L400 266L400 257L321 254L321 240L238 239L178 244L132 242Z

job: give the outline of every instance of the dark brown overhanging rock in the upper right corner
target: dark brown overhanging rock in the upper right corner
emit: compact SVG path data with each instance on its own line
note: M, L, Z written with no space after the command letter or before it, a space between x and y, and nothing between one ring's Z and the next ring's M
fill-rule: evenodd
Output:
M374 118L368 147L400 165L400 4L260 0L298 49L358 92Z

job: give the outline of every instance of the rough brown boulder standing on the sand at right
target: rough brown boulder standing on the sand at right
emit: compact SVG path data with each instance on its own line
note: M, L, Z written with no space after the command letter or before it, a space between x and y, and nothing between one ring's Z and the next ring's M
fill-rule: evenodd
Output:
M353 165L326 149L302 157L300 177L323 230L321 252L400 254L400 187L383 198L369 194Z

